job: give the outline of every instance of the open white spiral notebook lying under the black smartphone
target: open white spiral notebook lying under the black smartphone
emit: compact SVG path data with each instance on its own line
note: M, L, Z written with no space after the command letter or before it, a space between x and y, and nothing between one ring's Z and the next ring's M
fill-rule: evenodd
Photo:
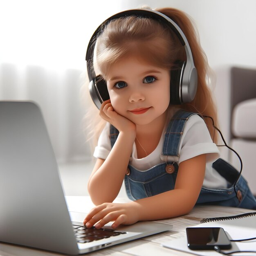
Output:
M253 238L256 237L256 212L250 212L236 216L202 219L201 224L194 227L222 227L227 233L229 239L232 240ZM246 242L231 242L231 245L232 248L230 250L225 250L225 252L256 251L256 239ZM187 247L186 236L163 243L162 246L195 255L220 256L220 254L215 251L193 251L189 249L189 247Z

